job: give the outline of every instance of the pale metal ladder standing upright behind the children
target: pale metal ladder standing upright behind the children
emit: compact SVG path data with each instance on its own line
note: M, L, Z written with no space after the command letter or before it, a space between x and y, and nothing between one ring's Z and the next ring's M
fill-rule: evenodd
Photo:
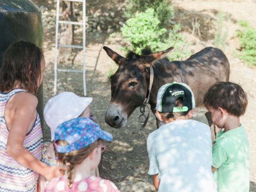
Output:
M86 3L86 0L66 0L66 1L81 2L83 4L83 22L81 23L81 22L74 22L74 21L59 20L60 0L57 0L56 31L55 31L55 62L54 62L54 95L56 95L57 93L57 72L72 72L72 73L83 73L84 96L86 96L86 81L85 81L85 3ZM82 25L83 26L83 46L58 44L59 23L71 24L71 25ZM83 49L83 70L58 69L57 68L58 47Z

